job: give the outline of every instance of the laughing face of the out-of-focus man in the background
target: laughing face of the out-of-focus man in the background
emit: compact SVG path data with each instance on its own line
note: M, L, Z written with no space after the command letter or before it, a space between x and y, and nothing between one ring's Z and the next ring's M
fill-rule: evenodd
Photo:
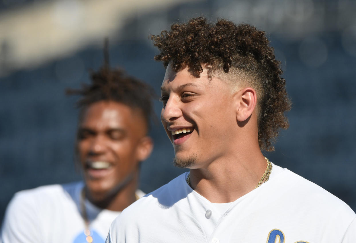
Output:
M146 132L142 115L122 103L99 101L84 111L77 149L89 192L110 195L133 180L146 158L140 154Z

